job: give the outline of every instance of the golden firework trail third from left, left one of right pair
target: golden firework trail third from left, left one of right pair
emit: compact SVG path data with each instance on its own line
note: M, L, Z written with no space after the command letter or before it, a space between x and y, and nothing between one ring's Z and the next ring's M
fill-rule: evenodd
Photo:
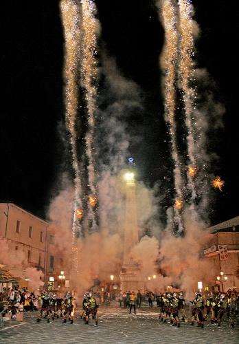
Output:
M165 29L165 46L161 65L165 71L165 109L166 121L169 126L170 140L172 146L172 158L174 160L174 189L175 202L183 200L183 178L181 173L181 163L179 159L179 151L177 148L176 138L176 79L177 79L177 55L178 55L178 34L177 34L177 17L174 4L171 0L162 2L162 19ZM183 221L180 209L174 206L174 222L178 225L179 233L183 231Z

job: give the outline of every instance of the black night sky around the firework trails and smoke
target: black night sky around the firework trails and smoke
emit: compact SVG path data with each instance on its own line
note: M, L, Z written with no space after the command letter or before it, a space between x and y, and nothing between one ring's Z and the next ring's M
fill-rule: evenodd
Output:
M224 129L210 142L219 159L215 173L225 180L215 192L212 223L239 215L237 1L192 1L201 28L196 41L198 67L214 80L214 96L225 106ZM141 133L130 147L139 178L148 186L168 175L159 53L163 29L151 0L98 0L102 25L99 45L116 59L120 72L141 89L144 116L128 123ZM110 4L110 6L109 6ZM1 200L45 216L57 189L58 175L69 161L65 147L63 39L58 1L5 1L1 56ZM233 43L234 44L233 44ZM150 158L149 158L150 157ZM163 184L164 189L170 185Z

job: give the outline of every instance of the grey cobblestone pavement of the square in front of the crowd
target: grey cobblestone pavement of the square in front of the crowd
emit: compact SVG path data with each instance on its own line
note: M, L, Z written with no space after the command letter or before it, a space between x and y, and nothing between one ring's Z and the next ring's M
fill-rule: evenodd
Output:
M77 319L73 325L62 324L60 319L47 323L44 319L36 323L36 312L25 316L23 323L8 322L0 329L0 343L239 343L239 323L231 329L225 321L222 327L206 324L204 329L182 323L180 328L159 323L158 310L144 308L137 314L128 314L126 310L101 308L99 325L84 325ZM6 328L6 327L10 328Z

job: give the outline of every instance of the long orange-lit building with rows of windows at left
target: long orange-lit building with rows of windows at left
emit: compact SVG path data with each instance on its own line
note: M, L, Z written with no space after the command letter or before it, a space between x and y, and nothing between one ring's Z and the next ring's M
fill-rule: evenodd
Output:
M62 258L57 255L54 247L54 233L49 222L25 211L16 204L0 203L0 237L5 239L8 244L9 264L14 262L16 252L23 261L23 264L15 268L16 275L23 276L21 284L27 284L26 268L36 268L43 272L41 280L46 286L50 284L52 288L56 287L58 275L62 270L60 266ZM11 266L9 267L11 268ZM14 275L14 268L11 271ZM49 283L49 279L55 283Z

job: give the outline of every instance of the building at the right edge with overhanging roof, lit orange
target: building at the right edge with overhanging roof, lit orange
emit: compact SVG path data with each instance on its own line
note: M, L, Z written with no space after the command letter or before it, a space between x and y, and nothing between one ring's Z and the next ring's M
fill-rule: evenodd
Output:
M216 290L239 290L239 216L207 230L211 239L202 253L214 275L209 284Z

